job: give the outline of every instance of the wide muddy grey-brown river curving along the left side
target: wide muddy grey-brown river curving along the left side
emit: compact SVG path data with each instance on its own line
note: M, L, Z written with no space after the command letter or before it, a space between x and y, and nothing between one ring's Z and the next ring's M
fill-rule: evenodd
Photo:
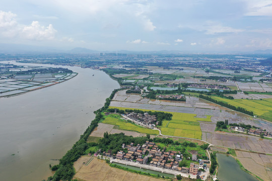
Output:
M2 61L0 63L7 63ZM5 181L47 179L49 164L57 164L94 119L117 81L99 70L63 67L79 74L53 86L0 98L0 178ZM94 74L94 76L93 76Z

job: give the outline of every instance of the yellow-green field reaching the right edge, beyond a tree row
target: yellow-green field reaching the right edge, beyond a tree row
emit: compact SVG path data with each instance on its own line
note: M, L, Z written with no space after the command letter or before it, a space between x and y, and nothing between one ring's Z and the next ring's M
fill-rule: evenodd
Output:
M248 111L252 111L254 115L265 119L267 121L272 121L272 99L263 99L263 100L229 100L220 97L213 97L213 99L218 101L223 101L229 103L236 107L242 107Z

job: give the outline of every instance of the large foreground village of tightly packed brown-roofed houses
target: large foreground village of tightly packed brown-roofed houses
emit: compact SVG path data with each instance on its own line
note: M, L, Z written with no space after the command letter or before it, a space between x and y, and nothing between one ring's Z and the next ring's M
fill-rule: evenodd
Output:
M165 151L159 149L158 145L154 142L146 141L142 146L140 144L134 146L134 143L129 145L122 145L123 150L112 154L112 150L104 151L98 150L94 153L94 156L106 156L109 157L111 162L118 162L125 165L134 165L143 167L147 165L149 169L163 170L162 172L168 172L172 174L182 174L183 176L203 178L203 175L209 173L209 167L207 164L209 160L197 159L196 154L192 154L192 158L184 158L180 151ZM179 166L183 159L191 160L189 167ZM195 164L198 162L198 164ZM137 164L138 163L138 164ZM157 169L157 168L158 169ZM163 169L160 169L163 168ZM201 176L200 176L201 175Z

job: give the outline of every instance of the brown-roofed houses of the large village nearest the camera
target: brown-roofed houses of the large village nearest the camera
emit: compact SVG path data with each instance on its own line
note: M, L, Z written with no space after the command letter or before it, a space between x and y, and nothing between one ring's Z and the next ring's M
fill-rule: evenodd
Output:
M113 158L134 161L141 164L149 164L152 166L172 169L184 173L197 174L198 169L207 168L209 160L198 160L196 155L192 156L193 161L199 161L199 164L190 163L190 167L179 167L179 162L182 161L183 156L178 151L161 151L154 142L147 141L142 146L138 144L134 146L133 143L129 145L122 145L123 149L127 151L119 151ZM97 153L96 153L97 154ZM112 156L111 152L103 152L106 156Z

